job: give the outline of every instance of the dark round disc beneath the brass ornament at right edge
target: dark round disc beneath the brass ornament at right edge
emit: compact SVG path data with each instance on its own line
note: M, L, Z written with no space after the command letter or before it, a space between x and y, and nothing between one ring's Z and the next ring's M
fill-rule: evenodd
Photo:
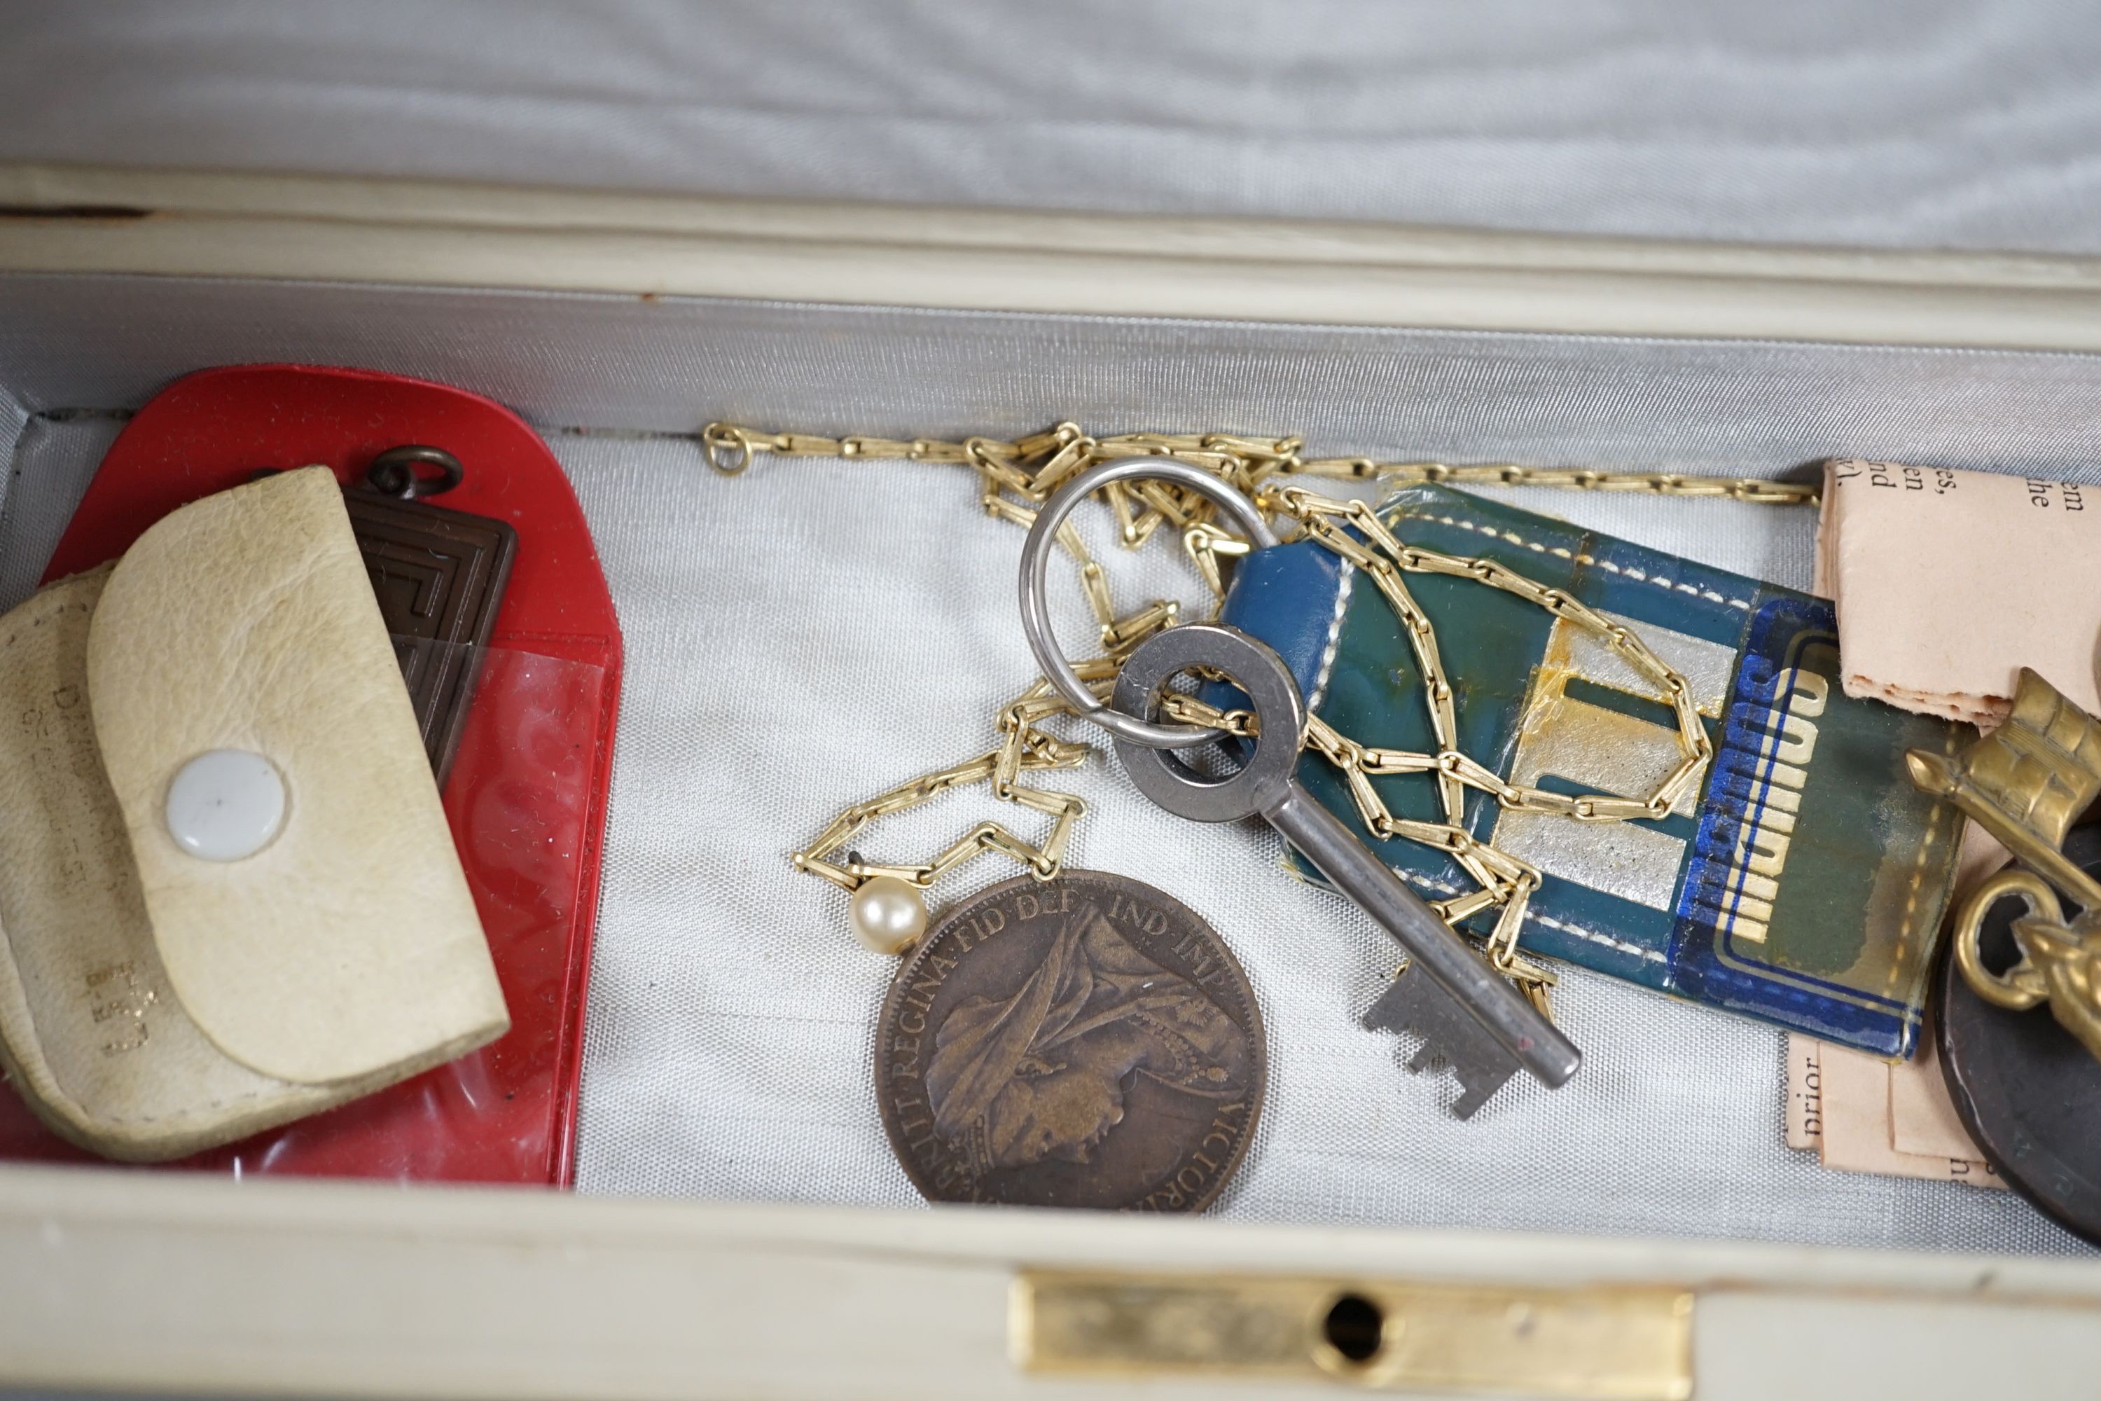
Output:
M2101 876L2101 823L2074 828L2065 855ZM1985 916L1977 952L2004 973L2017 958L2002 899ZM2078 905L2065 905L2069 920ZM1948 1092L1971 1138L2000 1176L2067 1231L2101 1246L2101 1061L2057 1025L2048 1004L2025 1012L1992 1006L1941 956L1939 1048Z

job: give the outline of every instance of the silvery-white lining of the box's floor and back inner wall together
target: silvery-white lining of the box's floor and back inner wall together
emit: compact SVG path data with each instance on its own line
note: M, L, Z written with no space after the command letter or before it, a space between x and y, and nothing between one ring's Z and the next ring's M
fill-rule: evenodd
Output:
M0 277L0 607L34 586L122 414L185 370L355 363L494 395L548 433L599 542L626 685L584 1044L592 1193L910 1206L874 1109L893 964L788 853L845 804L990 748L1034 678L1021 536L960 468L761 460L725 479L710 418L874 433L1301 431L1315 452L1777 475L1832 454L2097 481L2101 357L1359 332L139 277ZM13 405L13 412L6 412ZM473 471L473 464L469 464ZM1509 500L1805 586L1813 513L1572 492ZM1099 519L1093 527L1099 531ZM1193 599L1174 550L1105 548L1118 597ZM1088 628L1055 576L1074 653ZM1078 731L1074 731L1078 733ZM1780 1033L1569 970L1586 1065L1471 1124L1443 1078L1355 1023L1393 947L1277 870L1256 828L1151 809L1107 752L1076 863L1151 880L1233 945L1269 1023L1263 1126L1219 1212L2080 1250L2011 1193L1826 1172L1782 1147ZM872 828L916 855L1032 815L979 790ZM981 859L956 899L1004 878Z

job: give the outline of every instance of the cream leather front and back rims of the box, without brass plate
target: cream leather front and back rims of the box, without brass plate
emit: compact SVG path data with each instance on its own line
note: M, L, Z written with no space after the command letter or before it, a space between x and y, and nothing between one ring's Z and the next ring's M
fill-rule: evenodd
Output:
M53 210L0 225L0 275L2101 349L2101 267L2067 258L122 170L0 170L0 202ZM118 206L155 216L57 212ZM298 315L292 296L284 315ZM706 956L708 939L748 930L695 933L695 956ZM1130 1395L1128 1380L1019 1365L1027 1319L1017 1279L1040 1267L1298 1275L1336 1288L1674 1285L1693 1296L1700 1401L2090 1397L2101 1353L2101 1269L2090 1260L1712 1239L605 1201L0 1166L0 1258L11 1262L0 1271L0 1386L105 1393ZM1256 1390L1172 1376L1147 1380L1145 1395L1315 1397L1349 1384L1330 1376Z

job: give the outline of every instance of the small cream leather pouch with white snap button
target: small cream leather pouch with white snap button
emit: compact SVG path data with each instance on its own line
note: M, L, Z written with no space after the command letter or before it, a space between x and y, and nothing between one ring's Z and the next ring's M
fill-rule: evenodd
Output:
M282 792L231 859L193 855L191 762L221 750ZM181 1157L508 1025L326 468L185 506L0 618L0 1059L40 1120Z

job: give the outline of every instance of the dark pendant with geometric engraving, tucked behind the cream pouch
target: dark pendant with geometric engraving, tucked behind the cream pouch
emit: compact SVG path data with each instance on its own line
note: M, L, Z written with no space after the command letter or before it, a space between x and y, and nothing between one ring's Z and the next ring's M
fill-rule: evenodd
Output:
M490 517L376 492L345 492L342 504L395 639L431 771L443 786L511 580L517 531Z

